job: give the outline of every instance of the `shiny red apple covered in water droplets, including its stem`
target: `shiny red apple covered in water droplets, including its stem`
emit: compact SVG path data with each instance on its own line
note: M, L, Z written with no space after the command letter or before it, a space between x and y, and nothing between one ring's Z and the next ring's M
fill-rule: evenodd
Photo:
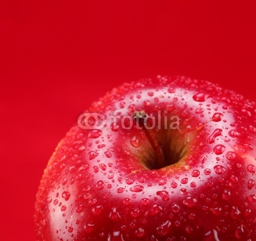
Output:
M37 240L255 241L255 105L186 77L113 89L49 160Z

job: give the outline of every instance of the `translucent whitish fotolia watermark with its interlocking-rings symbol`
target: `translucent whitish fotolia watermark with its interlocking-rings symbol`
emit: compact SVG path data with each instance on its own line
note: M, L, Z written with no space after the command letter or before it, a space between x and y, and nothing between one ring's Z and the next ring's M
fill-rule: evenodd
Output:
M142 129L179 129L180 119L179 116L167 116L167 111L158 111L157 117L148 116L144 111L134 111L132 115L122 116L122 111L116 110L109 120L101 113L83 113L77 118L77 124L84 130L102 129L107 125L108 121L118 123L124 130L129 130L134 127Z

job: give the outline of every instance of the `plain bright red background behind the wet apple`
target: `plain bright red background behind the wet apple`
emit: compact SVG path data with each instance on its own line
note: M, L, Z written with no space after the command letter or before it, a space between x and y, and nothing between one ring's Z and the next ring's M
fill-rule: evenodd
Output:
M1 0L0 240L35 240L49 157L113 87L179 74L256 100L253 2Z

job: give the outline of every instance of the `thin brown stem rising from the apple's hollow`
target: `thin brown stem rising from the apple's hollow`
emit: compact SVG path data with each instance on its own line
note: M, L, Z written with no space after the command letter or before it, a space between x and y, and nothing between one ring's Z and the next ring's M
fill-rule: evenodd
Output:
M150 144L151 144L151 146L152 146L152 148L155 152L156 159L157 159L157 167L161 168L161 167L165 166L164 165L165 159L164 159L163 150L159 146L159 143L156 139L156 136L155 136L152 128L148 127L148 115L147 115L147 113L145 113L145 111L134 111L134 113L132 113L132 117L134 118L134 120L136 120L139 127L144 130L144 133L145 133L148 141L150 142Z

